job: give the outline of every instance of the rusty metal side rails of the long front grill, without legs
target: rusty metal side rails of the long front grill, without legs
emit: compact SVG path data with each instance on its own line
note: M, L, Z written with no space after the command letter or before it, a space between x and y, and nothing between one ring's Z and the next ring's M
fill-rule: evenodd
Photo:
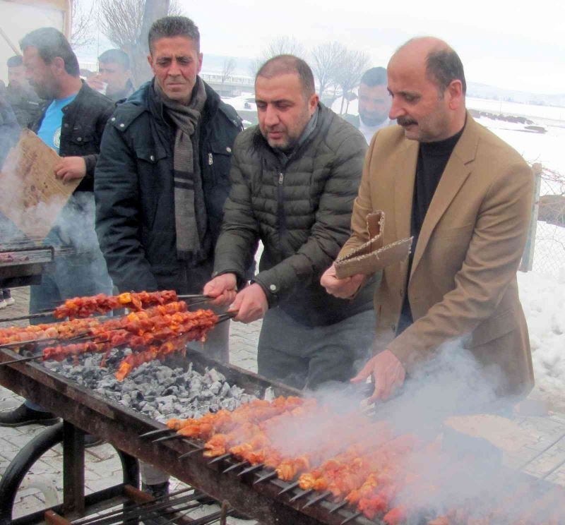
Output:
M0 349L0 362L18 358L8 349ZM206 357L198 351L187 351L186 362L191 361L194 369L202 371L213 367L224 374L228 381L235 382L248 393L262 397L270 387L275 396L301 395L299 390L282 383L270 381L260 375L236 366L225 365ZM175 366L175 362L169 363ZM176 363L177 365L179 363ZM179 460L179 455L189 452L191 447L179 440L154 443L138 438L142 433L165 428L161 423L126 406L88 390L78 383L44 368L40 363L28 361L0 367L0 384L32 402L40 403L44 409L54 412L66 422L86 433L100 436L115 448L153 464L170 475L202 490L216 500L227 500L235 509L264 525L339 525L352 514L340 510L330 514L333 505L302 506L307 500L290 503L292 493L279 496L284 483L272 480L254 485L255 474L239 477L237 471L222 473L226 464L219 461L209 464L210 459L201 452ZM80 497L80 494L79 494ZM75 502L75 508L83 507ZM364 520L367 524L375 521ZM358 520L362 523L363 520Z

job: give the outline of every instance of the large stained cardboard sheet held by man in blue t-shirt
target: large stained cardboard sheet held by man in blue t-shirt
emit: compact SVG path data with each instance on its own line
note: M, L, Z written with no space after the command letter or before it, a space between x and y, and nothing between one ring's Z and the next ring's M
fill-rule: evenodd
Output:
M61 157L24 129L0 171L0 212L31 239L42 241L81 179L64 183L54 167Z

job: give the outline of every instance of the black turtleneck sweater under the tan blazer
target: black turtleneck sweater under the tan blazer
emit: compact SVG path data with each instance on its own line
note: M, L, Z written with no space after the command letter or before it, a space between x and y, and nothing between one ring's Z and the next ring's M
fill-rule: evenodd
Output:
M412 251L410 251L410 258L408 260L408 279L410 279L410 270L412 270L412 260L416 251L418 236L424 218L426 217L434 193L436 193L437 185L441 179L441 175L446 169L446 164L453 153L453 148L456 146L460 136L463 134L463 129L453 137L446 138L446 140L439 140L433 143L420 143L420 151L418 152L418 162L416 164L416 178L414 181L414 198L412 198L412 218L410 219L410 235L414 238L412 240ZM400 314L400 321L396 334L399 335L406 328L412 325L412 310L408 302L408 285L406 286L406 294L402 306L402 313Z

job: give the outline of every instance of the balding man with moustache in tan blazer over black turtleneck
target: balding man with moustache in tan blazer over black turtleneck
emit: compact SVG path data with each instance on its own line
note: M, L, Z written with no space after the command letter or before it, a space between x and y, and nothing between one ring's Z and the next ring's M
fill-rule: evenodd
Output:
M383 210L384 243L414 236L403 263L386 267L374 306L372 399L386 399L438 347L463 338L496 392L533 387L528 328L518 298L533 195L528 164L465 109L465 76L456 52L432 37L408 41L388 64L390 118L364 164L345 255L368 240L367 214ZM364 276L321 279L355 295Z

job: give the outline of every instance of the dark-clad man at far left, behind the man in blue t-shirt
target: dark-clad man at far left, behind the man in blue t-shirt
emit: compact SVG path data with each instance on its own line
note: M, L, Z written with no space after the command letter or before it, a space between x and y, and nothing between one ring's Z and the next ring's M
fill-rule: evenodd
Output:
M40 110L40 98L25 78L25 67L20 55L11 56L8 66L8 87L6 99L11 105L16 119L22 128L27 128L37 119Z

